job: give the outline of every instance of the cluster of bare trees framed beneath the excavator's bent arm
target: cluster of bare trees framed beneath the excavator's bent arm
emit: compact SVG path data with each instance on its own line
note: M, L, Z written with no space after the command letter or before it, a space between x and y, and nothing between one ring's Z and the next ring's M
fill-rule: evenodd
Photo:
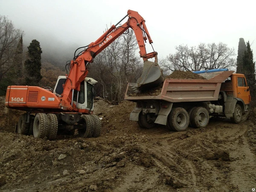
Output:
M142 73L142 60L135 54L137 48L134 32L130 31L96 56L88 75L99 82L95 89L100 96L110 101L124 99L127 83L136 82Z

